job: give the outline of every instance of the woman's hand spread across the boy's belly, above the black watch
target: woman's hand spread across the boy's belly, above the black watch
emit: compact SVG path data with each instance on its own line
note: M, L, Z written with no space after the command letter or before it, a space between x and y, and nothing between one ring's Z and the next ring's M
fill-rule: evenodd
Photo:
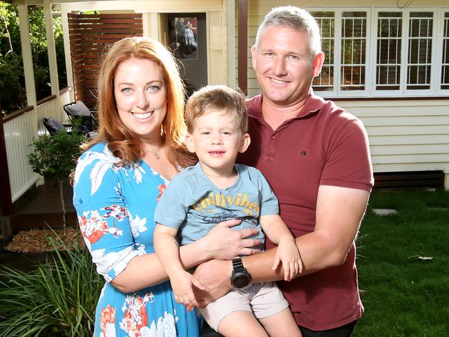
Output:
M227 220L216 225L204 238L198 240L209 253L209 258L218 260L231 260L239 255L260 253L260 249L253 247L260 244L258 239L247 239L256 235L258 229L242 229L234 231L231 227L242 222L241 220Z

